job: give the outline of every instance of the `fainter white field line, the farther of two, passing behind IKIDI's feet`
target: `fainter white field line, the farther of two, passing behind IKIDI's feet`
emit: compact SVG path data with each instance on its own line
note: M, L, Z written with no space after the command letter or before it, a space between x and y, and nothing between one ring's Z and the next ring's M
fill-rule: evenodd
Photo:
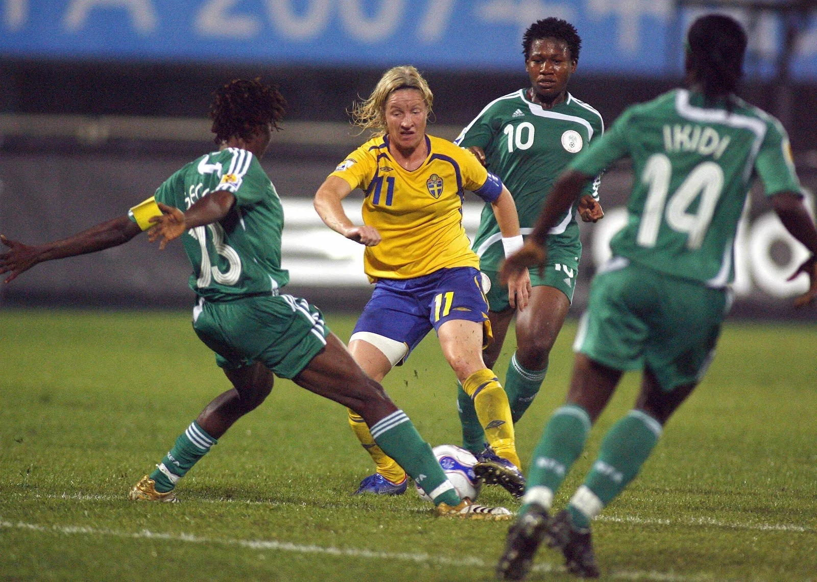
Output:
M78 500L78 501L122 501L125 495L118 497L116 495L81 495L63 493L62 495L19 495L12 494L29 499L63 499L63 500ZM245 504L245 505L285 505L275 503L274 501L251 501L251 500L208 500L197 499L190 500L188 503L228 503L228 504ZM746 523L746 522L724 522L714 518L685 518L685 519L658 519L658 518L636 518L632 516L618 517L615 515L600 515L596 518L600 522L613 523L633 523L639 526L712 526L722 527L731 530L749 530L749 531L794 531L797 533L807 533L815 531L814 527L796 526L782 523Z

